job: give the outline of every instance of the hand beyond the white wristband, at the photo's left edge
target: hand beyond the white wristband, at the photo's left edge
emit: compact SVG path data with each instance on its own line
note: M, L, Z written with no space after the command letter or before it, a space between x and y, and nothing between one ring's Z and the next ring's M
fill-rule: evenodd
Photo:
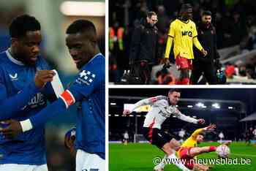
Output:
M0 130L0 134L3 134L5 138L12 139L16 137L18 134L22 133L22 127L19 121L15 120L7 120L4 121L8 126L4 129Z

